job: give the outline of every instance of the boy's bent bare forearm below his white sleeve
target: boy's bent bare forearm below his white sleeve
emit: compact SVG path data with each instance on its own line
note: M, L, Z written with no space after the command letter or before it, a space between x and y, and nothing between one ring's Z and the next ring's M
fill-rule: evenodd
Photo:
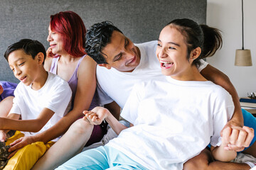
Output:
M38 115L38 118L33 120L18 120L19 115L9 114L7 118L0 118L0 129L38 132L44 125L46 125L53 114L54 112L48 108L43 108L43 111Z

